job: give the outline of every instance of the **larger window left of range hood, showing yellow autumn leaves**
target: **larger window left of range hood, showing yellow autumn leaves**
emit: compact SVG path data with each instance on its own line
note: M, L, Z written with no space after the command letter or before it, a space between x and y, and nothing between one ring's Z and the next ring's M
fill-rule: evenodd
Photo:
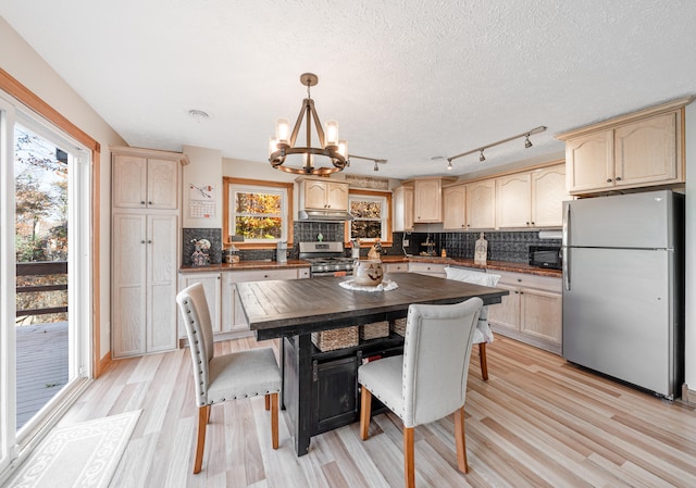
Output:
M239 178L224 180L224 234L227 243L244 238L240 247L275 247L291 240L293 184L254 182Z

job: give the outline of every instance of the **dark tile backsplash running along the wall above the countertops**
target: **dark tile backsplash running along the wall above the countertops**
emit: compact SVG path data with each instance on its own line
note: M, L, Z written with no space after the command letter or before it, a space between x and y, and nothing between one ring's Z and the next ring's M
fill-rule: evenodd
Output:
M309 242L318 240L319 235L325 241L344 241L344 224L341 222L295 222L293 228L294 246L288 249L288 258L297 259L299 254L298 242ZM220 228L185 228L183 229L184 245L182 262L185 265L191 264L191 254L195 251L192 241L197 239L208 239L211 243L209 256L211 264L222 262L222 229ZM419 254L426 251L423 246L430 237L434 242L433 251L439 255L443 248L447 250L447 255L451 258L474 256L474 243L478 239L480 232L458 232L458 233L408 233L406 238L409 246L401 248L405 233L394 233L394 245L385 248L387 255ZM488 259L493 261L512 261L525 263L529 260L530 246L560 246L560 239L542 239L538 230L522 232L484 232L488 240ZM368 249L360 250L361 255L368 254ZM239 251L241 260L275 260L275 249L249 249ZM348 253L346 254L348 255Z

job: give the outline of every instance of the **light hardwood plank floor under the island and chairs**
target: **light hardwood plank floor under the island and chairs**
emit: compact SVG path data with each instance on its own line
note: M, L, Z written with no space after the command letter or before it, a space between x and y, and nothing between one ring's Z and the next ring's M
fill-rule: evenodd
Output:
M270 341L261 343L266 346ZM217 343L216 353L256 347ZM457 471L453 420L415 429L419 487L695 487L696 412L497 336L489 380L472 353L465 405L470 473ZM312 438L297 458L283 414L271 449L263 398L213 406L203 471L191 474L197 409L189 351L114 362L62 425L142 409L116 487L399 487L401 425L373 418Z

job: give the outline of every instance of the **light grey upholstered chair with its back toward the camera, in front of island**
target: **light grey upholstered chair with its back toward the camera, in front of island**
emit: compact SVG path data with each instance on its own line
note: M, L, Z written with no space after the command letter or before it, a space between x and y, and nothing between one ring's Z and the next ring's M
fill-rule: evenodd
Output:
M451 305L411 304L403 354L358 368L362 387L360 437L368 438L372 397L403 422L403 471L407 488L415 486L414 427L455 414L457 464L469 472L464 437L464 400L472 340L483 300Z

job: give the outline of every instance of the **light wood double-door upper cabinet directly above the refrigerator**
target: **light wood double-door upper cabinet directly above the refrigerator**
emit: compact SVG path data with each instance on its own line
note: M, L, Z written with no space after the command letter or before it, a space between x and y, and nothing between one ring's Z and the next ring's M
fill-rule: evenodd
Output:
M571 195L683 184L684 107L693 97L561 134Z

